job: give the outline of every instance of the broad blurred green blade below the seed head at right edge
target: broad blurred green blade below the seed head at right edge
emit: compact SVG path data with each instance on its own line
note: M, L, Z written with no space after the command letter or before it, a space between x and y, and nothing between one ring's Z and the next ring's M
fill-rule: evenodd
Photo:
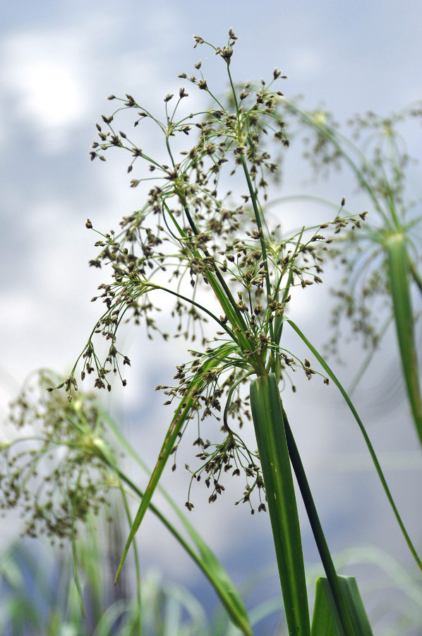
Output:
M422 399L414 334L414 314L411 307L409 254L407 254L405 235L402 233L391 235L387 238L385 247L388 254L390 291L404 381L416 431L422 444Z

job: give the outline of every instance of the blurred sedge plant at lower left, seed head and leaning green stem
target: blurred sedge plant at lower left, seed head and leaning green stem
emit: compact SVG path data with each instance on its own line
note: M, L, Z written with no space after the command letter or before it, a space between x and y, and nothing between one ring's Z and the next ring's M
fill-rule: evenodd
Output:
M76 599L81 616L85 617L88 604L90 614L94 608L94 618L100 620L107 599L102 598L102 586L95 570L95 558L92 558L95 550L87 544L84 536L92 534L92 519L101 512L114 529L114 534L119 535L122 526L115 519L115 495L119 495L120 517L126 517L131 527L130 502L135 500L139 503L144 493L122 468L121 454L131 457L141 470L148 475L150 473L93 394L79 391L76 399L68 401L64 394L47 390L59 379L59 375L51 370L40 370L30 375L11 404L8 424L13 426L16 434L9 435L9 439L0 445L0 505L2 510L20 510L23 536L47 538L52 546L58 544L61 548L71 542L76 589L76 595L72 592L73 601L69 601L72 613L74 615L76 611ZM224 567L186 514L161 485L158 488L179 520L182 531L156 505L150 505L151 512L203 572L231 623L243 634L251 635L246 608ZM122 636L123 633L141 635L146 620L143 610L145 593L141 594L140 590L136 548L134 566L136 593L126 594L131 596L131 603ZM89 581L88 600L81 570L85 582ZM6 565L4 572L6 576L13 577L11 567ZM116 603L122 613L128 611L128 607L124 603L122 605L121 597L109 600L113 601L113 605ZM38 620L39 616L33 609Z

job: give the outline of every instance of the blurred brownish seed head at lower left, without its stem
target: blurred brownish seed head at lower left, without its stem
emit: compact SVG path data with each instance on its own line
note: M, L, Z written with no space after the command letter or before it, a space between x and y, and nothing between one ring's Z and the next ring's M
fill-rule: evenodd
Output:
M104 422L93 396L69 402L46 391L57 377L41 371L11 405L17 435L0 446L2 510L20 507L23 534L52 539L75 536L78 522L107 509L114 483ZM30 433L28 434L28 430Z

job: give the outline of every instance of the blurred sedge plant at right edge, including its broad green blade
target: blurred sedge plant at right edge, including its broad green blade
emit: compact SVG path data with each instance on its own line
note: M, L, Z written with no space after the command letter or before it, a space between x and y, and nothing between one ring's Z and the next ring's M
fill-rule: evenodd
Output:
M339 287L333 290L337 303L327 351L337 353L337 344L344 341L346 322L351 324L354 338L361 337L368 355L351 384L351 392L393 322L406 395L422 444L422 397L414 326L415 301L420 302L422 294L422 216L418 201L411 196L409 168L415 160L406 148L406 125L421 121L422 103L386 116L374 112L356 114L347 122L349 135L322 107L308 110L298 100L284 99L277 104L277 114L287 122L291 136L303 136L303 156L315 176L329 177L334 170L346 170L368 206L369 216L361 231L348 228L331 251L343 276ZM272 204L292 200L313 200L335 208L332 201L309 194L279 197ZM380 324L385 305L389 315Z

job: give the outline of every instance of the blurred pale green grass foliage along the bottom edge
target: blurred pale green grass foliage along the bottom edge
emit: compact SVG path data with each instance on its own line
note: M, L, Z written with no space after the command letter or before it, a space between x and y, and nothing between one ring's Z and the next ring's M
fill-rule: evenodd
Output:
M119 504L113 506L116 522L100 517L92 520L90 531L80 537L80 579L86 617L80 613L78 591L73 579L73 562L65 550L45 541L21 541L1 553L0 629L4 636L133 636L138 606L131 587L133 572L123 586L114 587L112 573L120 555L116 541ZM356 572L368 567L378 578L363 588L370 622L378 636L418 636L422 587L406 568L375 546L344 550L336 556L339 572L353 566ZM100 565L101 564L101 565ZM307 584L311 591L322 574L319 565L307 564ZM277 576L275 567L255 572L241 584L251 625L259 628L267 621L268 636L286 636L279 612L279 596L257 603L253 590L265 579ZM394 608L388 599L394 599ZM399 603L397 603L399 599ZM180 583L163 580L158 570L142 575L142 633L145 636L239 636L227 613L217 606L210 615L200 601Z

